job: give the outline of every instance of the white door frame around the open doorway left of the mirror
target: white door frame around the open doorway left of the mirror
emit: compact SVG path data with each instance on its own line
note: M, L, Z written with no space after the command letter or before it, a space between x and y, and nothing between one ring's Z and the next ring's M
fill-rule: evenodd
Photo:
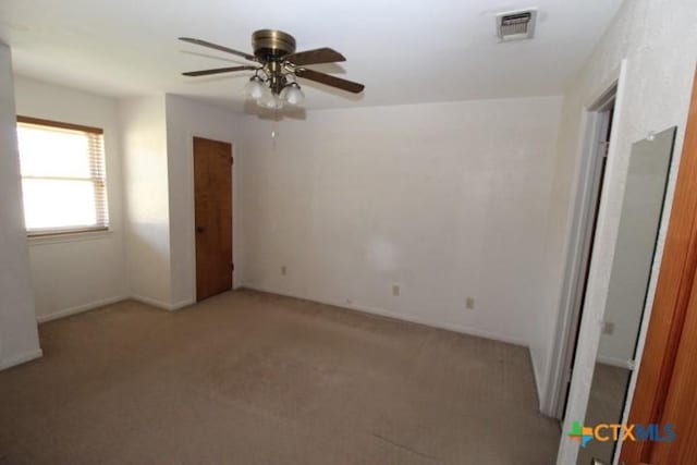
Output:
M592 250L588 250L589 242L587 234L594 225L589 224L589 213L596 208L594 198L596 195L602 196L604 186L597 186L596 169L601 161L600 147L597 142L602 137L603 123L607 118L603 111L610 102L616 105L620 93L621 77L626 68L625 61L606 82L600 90L594 94L589 103L585 106L582 114L579 142L579 161L576 172L576 186L574 196L574 208L570 222L566 238L566 259L563 268L563 281L561 295L559 298L559 316L557 319L555 336L552 342L549 362L549 376L546 384L546 395L540 399L540 411L551 417L562 419L566 408L566 387L571 383L573 367L571 366L572 354L577 344L576 331L580 328L582 309L578 303L584 295L580 274L585 271L585 265L589 264ZM615 114L613 124L616 124ZM607 125L604 126L607 129ZM609 156L609 154L608 154ZM607 176L606 176L607 178ZM607 179L606 179L607 181ZM599 211L596 212L599 215ZM596 219L597 222L597 219ZM595 233L595 230L594 230Z

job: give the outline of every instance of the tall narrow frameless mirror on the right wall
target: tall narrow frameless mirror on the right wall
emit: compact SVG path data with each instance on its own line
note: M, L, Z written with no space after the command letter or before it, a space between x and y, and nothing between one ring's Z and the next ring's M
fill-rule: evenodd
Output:
M632 146L615 255L584 426L620 424L663 211L675 127ZM610 431L611 433L611 431ZM589 441L578 464L612 463L615 442Z

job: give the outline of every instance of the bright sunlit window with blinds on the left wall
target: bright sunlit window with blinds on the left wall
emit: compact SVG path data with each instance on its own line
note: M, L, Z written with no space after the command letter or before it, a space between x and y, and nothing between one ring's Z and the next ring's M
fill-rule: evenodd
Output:
M29 236L109 228L103 131L17 117Z

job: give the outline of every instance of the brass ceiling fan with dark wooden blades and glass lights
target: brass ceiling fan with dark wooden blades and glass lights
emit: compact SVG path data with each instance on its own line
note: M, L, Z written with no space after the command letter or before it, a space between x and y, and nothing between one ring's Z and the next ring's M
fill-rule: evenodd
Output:
M295 38L281 30L260 29L252 34L254 54L192 37L180 37L179 39L255 62L256 64L189 71L182 74L185 76L207 76L235 71L254 71L254 76L245 85L245 94L255 99L260 107L278 110L283 108L284 102L302 103L305 95L297 84L297 77L353 94L359 94L365 88L363 84L305 68L310 64L335 63L346 59L343 54L328 47L295 52Z

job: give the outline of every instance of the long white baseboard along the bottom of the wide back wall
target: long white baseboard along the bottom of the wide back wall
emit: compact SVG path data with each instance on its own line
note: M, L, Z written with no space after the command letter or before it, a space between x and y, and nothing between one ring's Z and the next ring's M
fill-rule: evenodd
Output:
M431 328L444 329L444 330L448 330L448 331L460 332L462 334L475 335L477 338L491 339L491 340L494 340L494 341L505 342L508 344L522 345L524 347L528 347L528 344L527 344L526 341L523 341L523 340L519 340L519 339L516 339L516 338L510 338L508 335L497 334L497 333L489 332L489 331L482 331L480 329L472 328L472 327L464 326L464 325L442 322L442 321L432 321L432 320L429 320L428 318L417 317L417 316L413 316L413 315L399 314L396 311L386 310L386 309L376 308L376 307L369 307L369 306L365 306L365 305L356 305L356 304L346 305L345 303L341 303L341 302L323 301L323 299L319 299L319 298L308 297L308 296L305 296L305 295L293 294L293 293L285 292L285 291L279 291L279 290L273 290L273 289L269 289L269 287L258 286L258 285L255 285L255 284L242 284L241 287L250 289L253 291L266 292L266 293L269 293L269 294L283 295L283 296L286 296L286 297L302 298L304 301L317 302L319 304L332 305L334 307L348 308L348 309L352 309L352 310L364 311L366 314L378 315L378 316L381 316L381 317L392 318L392 319L395 319L395 320L408 321L408 322L413 322L413 323L417 323L417 325L424 325L424 326L431 327Z

